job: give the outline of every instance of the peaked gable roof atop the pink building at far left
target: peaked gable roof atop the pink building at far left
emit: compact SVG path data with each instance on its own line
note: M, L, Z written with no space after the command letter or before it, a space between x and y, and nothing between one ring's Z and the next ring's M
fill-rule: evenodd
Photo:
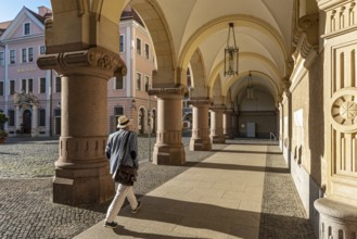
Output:
M3 41L5 39L9 39L18 27L23 24L23 20L25 17L31 18L31 21L38 25L38 27L42 28L44 30L44 20L47 18L46 16L41 16L34 11L27 9L26 7L23 7L23 9L18 12L18 14L15 16L13 21L10 21L10 24L8 25L7 28L3 30L0 29L0 41ZM1 27L0 27L1 28ZM1 34L2 32L2 34Z

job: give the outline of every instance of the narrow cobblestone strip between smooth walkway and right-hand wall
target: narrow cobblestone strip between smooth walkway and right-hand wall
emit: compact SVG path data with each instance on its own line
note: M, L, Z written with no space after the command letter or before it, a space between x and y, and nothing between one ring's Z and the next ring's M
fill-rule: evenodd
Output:
M266 164L259 238L315 239L283 156L267 153Z

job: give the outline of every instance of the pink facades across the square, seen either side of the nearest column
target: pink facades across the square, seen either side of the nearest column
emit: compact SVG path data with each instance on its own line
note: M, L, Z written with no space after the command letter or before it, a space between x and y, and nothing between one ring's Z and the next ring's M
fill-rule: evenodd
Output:
M42 71L37 58L46 52L44 21L51 10L35 13L25 7L17 16L0 23L0 111L9 116L4 130L14 136L61 134L61 77ZM128 74L107 84L107 128L116 130L116 118L128 115L139 134L155 131L156 101L146 89L155 68L150 36L140 18L128 9L119 26L120 56ZM95 113L95 109L93 109Z

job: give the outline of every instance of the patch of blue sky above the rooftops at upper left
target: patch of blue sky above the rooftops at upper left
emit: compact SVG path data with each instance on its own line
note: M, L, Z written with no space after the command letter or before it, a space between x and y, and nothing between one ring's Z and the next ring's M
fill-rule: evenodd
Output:
M40 5L51 9L51 0L0 0L0 23L15 18L24 5L34 12Z

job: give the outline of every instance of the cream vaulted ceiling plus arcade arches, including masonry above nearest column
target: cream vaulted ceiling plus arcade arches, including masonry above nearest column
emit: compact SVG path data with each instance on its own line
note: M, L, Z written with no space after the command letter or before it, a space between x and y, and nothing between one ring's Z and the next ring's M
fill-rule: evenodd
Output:
M250 73L257 87L270 93L276 102L281 99L281 80L289 78L292 71L296 18L304 11L308 13L309 4L316 5L315 0L51 0L51 3L54 21L48 30L48 36L53 35L47 39L49 47L85 42L114 52L118 34L112 33L123 10L131 5L144 22L155 48L154 87L184 86L190 68L194 70L193 92L200 92L195 97L214 97L217 90L213 88L218 81L221 99L226 99L224 104L232 100L228 96L235 99L242 92ZM75 30L82 28L85 17L93 15L97 23L89 21L92 25L88 34ZM234 77L224 75L229 23L234 24L240 49L239 75ZM65 36L61 34L64 28ZM50 33L52 29L60 30ZM56 51L49 48L49 52L51 49Z

